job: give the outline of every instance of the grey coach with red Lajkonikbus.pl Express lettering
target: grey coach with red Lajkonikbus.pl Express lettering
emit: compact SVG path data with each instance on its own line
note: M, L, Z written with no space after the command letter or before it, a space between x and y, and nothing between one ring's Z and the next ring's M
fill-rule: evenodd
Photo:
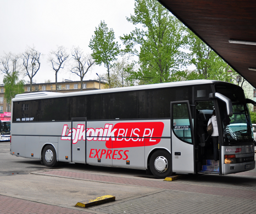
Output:
M10 154L43 161L172 173L253 170L250 114L240 86L214 80L80 92L34 92L12 100ZM218 160L207 134L215 109ZM242 124L242 125L241 125Z

